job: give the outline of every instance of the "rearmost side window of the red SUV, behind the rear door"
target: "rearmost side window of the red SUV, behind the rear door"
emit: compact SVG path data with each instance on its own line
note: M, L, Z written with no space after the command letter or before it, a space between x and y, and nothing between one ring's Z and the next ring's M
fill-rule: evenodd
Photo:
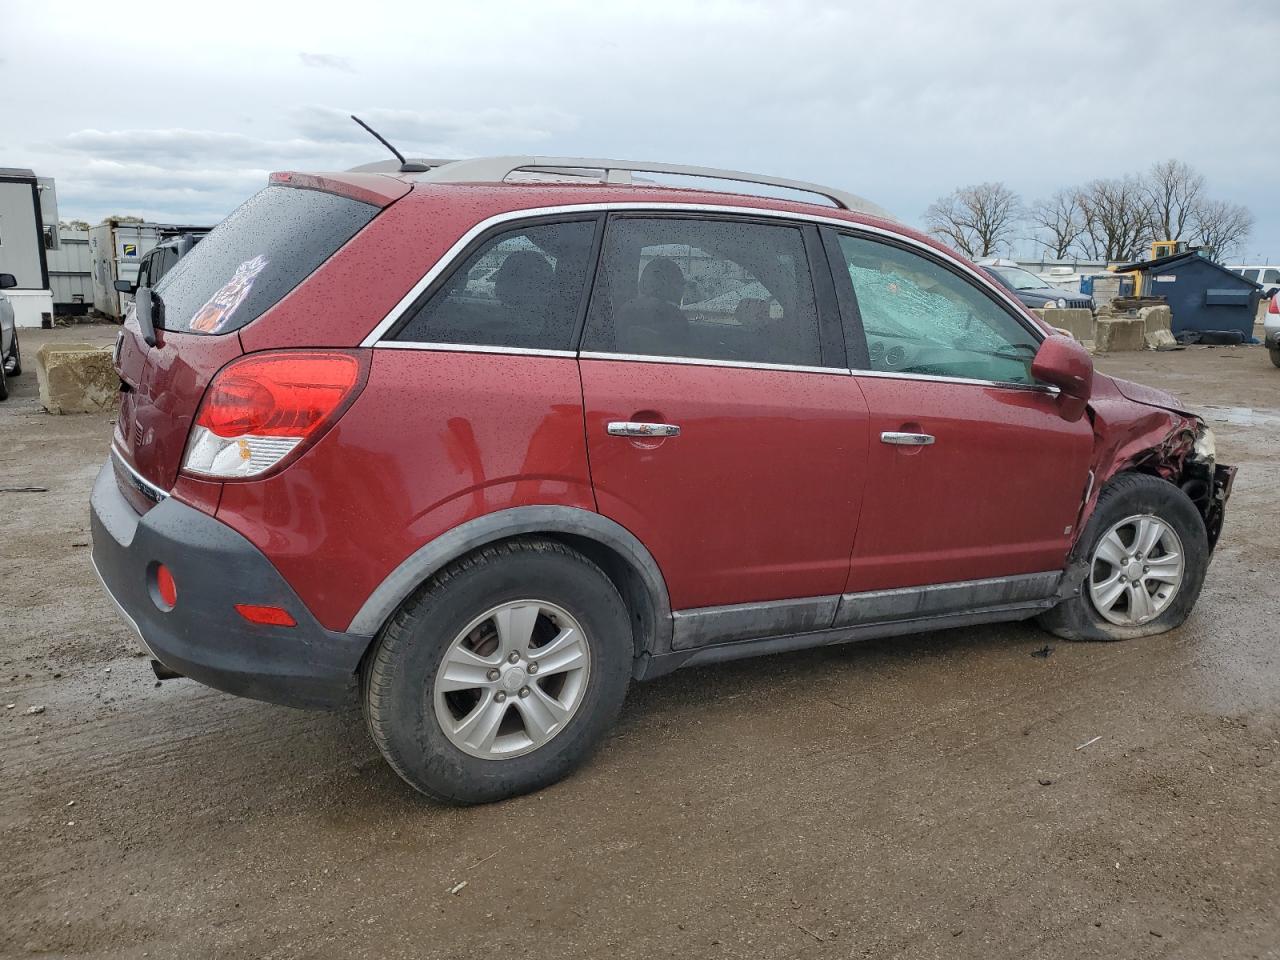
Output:
M576 220L492 237L449 274L394 339L572 349L594 234L594 220Z

